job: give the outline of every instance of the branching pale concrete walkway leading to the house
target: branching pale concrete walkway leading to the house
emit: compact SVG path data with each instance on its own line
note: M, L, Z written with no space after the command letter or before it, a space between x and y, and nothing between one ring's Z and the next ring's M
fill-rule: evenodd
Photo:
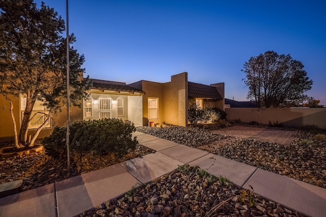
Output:
M133 136L156 152L1 198L0 216L74 216L184 164L210 167L208 172L226 176L246 189L251 185L255 193L290 209L325 216L326 189L147 134L135 132Z

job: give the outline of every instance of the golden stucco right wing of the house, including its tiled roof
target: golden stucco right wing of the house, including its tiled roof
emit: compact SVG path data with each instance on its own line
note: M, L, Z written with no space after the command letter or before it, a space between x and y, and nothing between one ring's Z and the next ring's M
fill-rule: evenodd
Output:
M148 122L187 126L188 107L195 102L201 107L224 110L224 83L188 82L186 72L171 76L171 81L166 83L141 80L128 85L146 92L143 96L143 126Z

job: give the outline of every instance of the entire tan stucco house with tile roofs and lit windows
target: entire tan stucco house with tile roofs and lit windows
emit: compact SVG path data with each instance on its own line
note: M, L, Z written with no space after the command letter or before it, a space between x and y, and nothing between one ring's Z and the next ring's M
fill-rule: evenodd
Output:
M132 84L116 81L91 79L93 87L89 97L82 102L82 108L70 108L70 120L92 120L101 118L119 118L146 126L148 122L167 122L178 126L187 126L188 107L197 103L200 107L220 107L224 110L224 83L211 85L188 81L186 72L171 76L171 81L159 83L141 80ZM24 111L23 96L10 96L14 102L14 116L17 131ZM0 95L0 142L12 140L12 120L8 104ZM36 103L34 112L46 112L41 103ZM42 123L42 118L32 120L29 134L33 134ZM54 126L65 126L66 112L63 110L39 134L39 138L48 136Z

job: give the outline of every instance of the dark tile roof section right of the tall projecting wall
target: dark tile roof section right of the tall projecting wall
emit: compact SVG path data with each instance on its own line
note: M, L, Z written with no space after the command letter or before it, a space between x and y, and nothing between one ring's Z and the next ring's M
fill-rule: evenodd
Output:
M190 81L188 81L188 98L223 99L215 87Z

